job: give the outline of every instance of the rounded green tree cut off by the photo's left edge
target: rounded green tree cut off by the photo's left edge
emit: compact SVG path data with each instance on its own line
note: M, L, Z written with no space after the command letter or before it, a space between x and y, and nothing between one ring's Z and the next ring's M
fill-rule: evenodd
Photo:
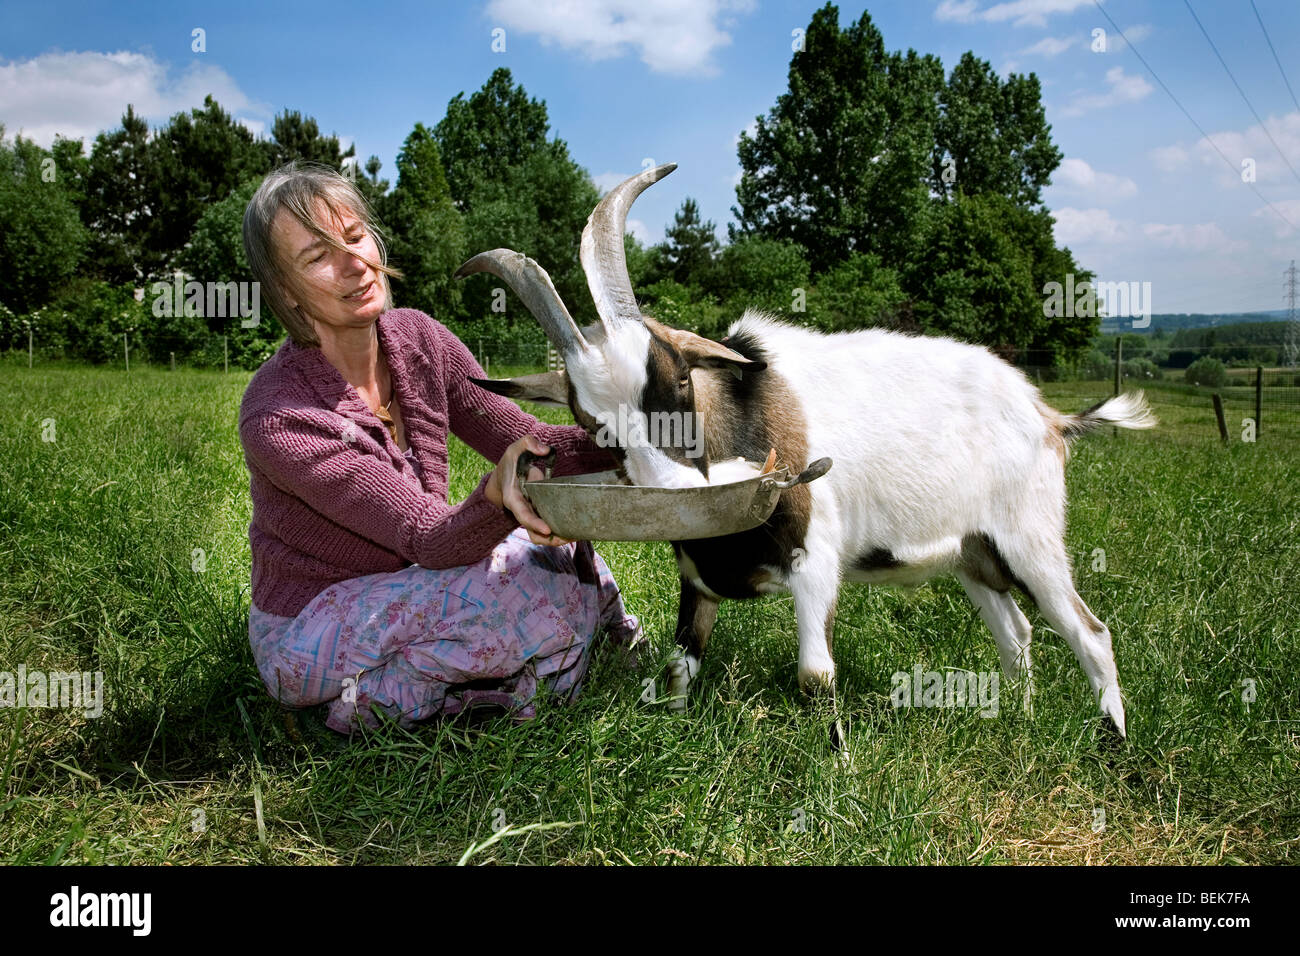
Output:
M77 269L86 230L52 153L0 126L0 302L27 312Z

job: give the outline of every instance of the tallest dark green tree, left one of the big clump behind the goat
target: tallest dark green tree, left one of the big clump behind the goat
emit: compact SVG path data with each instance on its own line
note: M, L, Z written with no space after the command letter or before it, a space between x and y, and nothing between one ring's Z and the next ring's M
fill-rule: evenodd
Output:
M887 53L868 13L840 30L833 4L816 10L789 91L741 134L732 238L797 242L816 273L850 252L901 260L928 198L942 81L937 57Z

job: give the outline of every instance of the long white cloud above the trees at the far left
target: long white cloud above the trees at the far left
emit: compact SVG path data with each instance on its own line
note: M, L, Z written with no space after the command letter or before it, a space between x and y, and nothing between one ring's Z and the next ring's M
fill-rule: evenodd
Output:
M144 53L72 52L42 53L30 60L0 62L0 117L5 135L25 138L48 147L58 133L69 139L86 139L87 150L95 135L121 125L126 105L152 125L191 107L202 107L207 94L240 118L246 126L264 127L261 121L243 120L251 112L266 116L220 66L192 61L173 75L168 64Z

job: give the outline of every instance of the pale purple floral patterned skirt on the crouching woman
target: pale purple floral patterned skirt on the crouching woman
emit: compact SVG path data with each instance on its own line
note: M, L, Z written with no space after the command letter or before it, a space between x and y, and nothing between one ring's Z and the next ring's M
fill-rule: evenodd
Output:
M329 704L347 732L495 705L534 715L538 685L577 696L598 633L634 656L641 626L590 541L534 545L516 528L477 564L420 564L330 585L295 618L250 610L263 683L285 706Z

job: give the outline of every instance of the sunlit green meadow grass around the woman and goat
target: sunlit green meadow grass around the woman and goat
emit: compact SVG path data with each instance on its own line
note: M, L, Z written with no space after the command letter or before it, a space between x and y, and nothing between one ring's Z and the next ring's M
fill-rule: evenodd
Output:
M598 656L575 705L525 724L299 745L247 644L248 375L23 365L0 367L0 670L99 670L107 689L98 719L0 710L5 862L1300 861L1294 433L1225 447L1208 403L1154 390L1158 431L1076 445L1067 542L1115 635L1124 743L1028 606L1032 719L1014 693L996 719L894 710L894 671L997 667L946 579L844 589L848 766L779 597L723 605L685 714L641 701L654 661ZM1070 411L1106 390L1045 386ZM456 442L454 497L485 470ZM671 549L599 550L662 659Z

